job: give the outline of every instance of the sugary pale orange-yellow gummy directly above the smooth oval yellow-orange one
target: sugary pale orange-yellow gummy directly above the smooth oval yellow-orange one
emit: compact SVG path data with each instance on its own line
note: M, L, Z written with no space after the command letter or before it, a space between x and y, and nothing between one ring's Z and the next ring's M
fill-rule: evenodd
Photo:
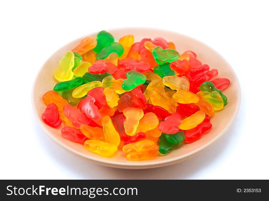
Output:
M163 84L168 86L172 90L189 90L190 89L190 81L187 77L178 77L178 76L165 76L163 77Z

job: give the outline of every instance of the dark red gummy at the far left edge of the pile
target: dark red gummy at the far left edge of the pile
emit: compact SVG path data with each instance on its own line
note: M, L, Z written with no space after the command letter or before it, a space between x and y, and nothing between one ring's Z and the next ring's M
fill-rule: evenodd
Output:
M61 125L62 120L60 119L57 105L50 103L45 112L42 114L42 119L50 127L57 128Z

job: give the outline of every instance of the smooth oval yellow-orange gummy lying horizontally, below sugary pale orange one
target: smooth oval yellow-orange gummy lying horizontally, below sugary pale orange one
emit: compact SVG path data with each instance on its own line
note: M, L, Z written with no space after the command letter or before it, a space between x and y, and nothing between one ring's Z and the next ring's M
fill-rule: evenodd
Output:
M199 101L199 97L197 95L186 90L176 92L172 98L175 102L182 104L197 103Z

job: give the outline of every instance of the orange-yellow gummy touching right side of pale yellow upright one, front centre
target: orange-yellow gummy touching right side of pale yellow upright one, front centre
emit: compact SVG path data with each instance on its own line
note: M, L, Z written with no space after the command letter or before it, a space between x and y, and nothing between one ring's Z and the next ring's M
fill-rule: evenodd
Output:
M143 132L146 133L149 130L153 130L159 125L159 119L156 114L149 112L139 121L138 127L135 133Z

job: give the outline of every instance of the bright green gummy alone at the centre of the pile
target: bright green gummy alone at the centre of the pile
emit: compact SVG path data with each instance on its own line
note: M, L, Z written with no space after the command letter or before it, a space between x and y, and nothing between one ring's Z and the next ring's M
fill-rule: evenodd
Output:
M127 79L123 80L121 87L125 91L130 91L136 88L139 84L144 84L146 82L146 76L136 70L130 70L126 74Z

